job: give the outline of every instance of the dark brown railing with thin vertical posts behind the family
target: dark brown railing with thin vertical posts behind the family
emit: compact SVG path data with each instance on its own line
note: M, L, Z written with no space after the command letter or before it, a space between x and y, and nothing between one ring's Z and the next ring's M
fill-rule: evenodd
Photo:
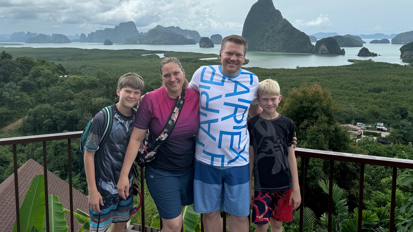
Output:
M20 213L19 213L19 184L18 184L18 173L17 173L17 144L26 144L31 142L43 142L43 163L44 163L44 175L45 175L45 205L46 205L46 230L50 232L49 229L49 211L48 211L48 194L47 194L47 160L46 160L46 142L52 140L67 140L67 154L68 154L68 166L69 166L69 196L70 196L70 211L73 212L73 193L72 193L72 166L71 166L71 139L79 138L82 131L68 132L68 133L58 133L49 135L34 135L34 136L24 136L24 137L12 137L0 139L0 146L12 145L13 146L13 162L14 162L14 185L15 185L15 195L16 195L16 221L17 221L17 232L20 232ZM396 179L397 179L397 168L410 168L413 169L413 161L406 159L396 159L378 156L367 156L360 154L349 154L340 152L328 152L312 149L301 149L297 148L295 151L296 156L301 156L301 180L300 180L300 190L302 203L300 205L300 232L303 230L303 213L304 213L304 183L305 183L305 163L306 159L318 158L330 160L330 178L329 178L329 204L328 204L328 231L331 231L332 227L332 210L333 210L333 199L332 199L332 187L333 187L333 170L334 161L346 161L351 163L360 163L360 191L359 191L359 204L358 204L358 218L361 218L363 209L363 187L364 187L364 166L377 165L377 166L387 166L393 168L392 174L392 196L391 196L391 207L390 207L390 232L394 231L394 210L396 208ZM142 192L142 197L145 195L145 185L144 185L144 175L143 168L140 171L140 187ZM142 218L142 232L145 232L145 201L141 207L141 218ZM201 215L202 217L202 215ZM223 217L223 231L226 231L225 215ZM70 225L71 232L74 232L74 217L73 213L70 213ZM201 228L203 230L203 223L201 220ZM358 220L358 231L361 232L361 220Z

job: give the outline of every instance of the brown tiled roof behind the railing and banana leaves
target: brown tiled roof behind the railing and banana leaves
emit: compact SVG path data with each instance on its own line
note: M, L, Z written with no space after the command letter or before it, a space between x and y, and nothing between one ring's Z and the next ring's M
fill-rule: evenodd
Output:
M24 196L31 180L37 174L43 174L43 166L29 159L18 170L19 177L19 203L23 202ZM64 208L70 209L69 184L60 179L57 175L47 170L48 194L59 196ZM72 188L73 209L79 208L81 211L89 213L88 197ZM16 220L16 195L14 190L14 173L0 184L0 231L12 231ZM70 215L66 214L67 225L70 231ZM79 230L79 224L74 220L74 231Z

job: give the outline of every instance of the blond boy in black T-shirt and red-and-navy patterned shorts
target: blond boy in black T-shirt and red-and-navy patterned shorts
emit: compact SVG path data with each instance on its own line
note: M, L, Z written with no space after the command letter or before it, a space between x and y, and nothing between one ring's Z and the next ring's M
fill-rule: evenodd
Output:
M292 211L301 203L293 146L294 122L276 111L281 97L275 80L261 81L258 102L263 111L247 122L251 220L256 224L256 232L266 232L268 222L271 232L281 232L282 222L291 221Z

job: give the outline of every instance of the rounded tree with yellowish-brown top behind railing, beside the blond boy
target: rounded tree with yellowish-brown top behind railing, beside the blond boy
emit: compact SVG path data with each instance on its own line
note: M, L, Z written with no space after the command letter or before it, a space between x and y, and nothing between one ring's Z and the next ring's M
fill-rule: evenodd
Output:
M323 151L354 153L351 138L347 128L337 121L338 104L332 99L328 89L321 88L317 83L308 85L303 83L299 88L293 88L287 97L281 100L280 113L292 119L298 139L298 147ZM306 159L299 166L306 166L306 182L304 189L313 195L323 196L319 188L319 181L328 179L330 161L323 159ZM359 166L349 162L335 162L335 179L339 186L345 187L347 193L357 192ZM300 169L299 169L300 170ZM301 175L301 173L299 173ZM309 202L316 214L326 211L323 198L313 199L313 195L306 195L304 201ZM352 196L351 199L355 199Z

